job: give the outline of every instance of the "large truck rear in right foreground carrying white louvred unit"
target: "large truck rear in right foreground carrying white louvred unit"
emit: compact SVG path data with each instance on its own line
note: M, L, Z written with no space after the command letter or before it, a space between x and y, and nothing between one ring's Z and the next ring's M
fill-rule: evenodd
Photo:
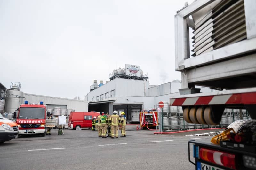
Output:
M215 144L189 141L196 170L256 169L255 11L254 0L196 0L175 15L175 69L182 87L170 105L182 106L188 123L218 125L225 108L246 109L252 118L246 125L234 122L238 131L230 124ZM197 86L213 90L200 93Z

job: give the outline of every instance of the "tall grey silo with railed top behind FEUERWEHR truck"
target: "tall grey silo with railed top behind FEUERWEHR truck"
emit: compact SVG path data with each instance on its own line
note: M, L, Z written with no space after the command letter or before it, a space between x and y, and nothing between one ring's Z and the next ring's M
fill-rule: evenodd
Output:
M7 90L6 95L7 98L5 101L4 111L7 113L15 112L22 104L23 91L20 91L21 84L16 82L11 82L11 89Z

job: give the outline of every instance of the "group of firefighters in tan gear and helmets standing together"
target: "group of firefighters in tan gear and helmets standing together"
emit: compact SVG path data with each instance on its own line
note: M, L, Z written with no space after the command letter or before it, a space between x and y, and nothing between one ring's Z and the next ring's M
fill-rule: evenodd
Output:
M106 115L107 113L100 112L100 115L92 119L92 130L98 131L98 136L102 138L110 137L112 139L118 138L118 127L121 130L121 137L126 137L126 116L124 112L121 112L121 118L117 115L117 111L114 111L112 115ZM108 132L108 136L106 134Z

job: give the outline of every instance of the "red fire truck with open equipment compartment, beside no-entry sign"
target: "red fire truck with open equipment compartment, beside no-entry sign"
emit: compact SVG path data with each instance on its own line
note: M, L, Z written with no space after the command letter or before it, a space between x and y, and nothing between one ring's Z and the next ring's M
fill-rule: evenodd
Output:
M158 115L155 110L143 110L140 112L140 127L156 127Z

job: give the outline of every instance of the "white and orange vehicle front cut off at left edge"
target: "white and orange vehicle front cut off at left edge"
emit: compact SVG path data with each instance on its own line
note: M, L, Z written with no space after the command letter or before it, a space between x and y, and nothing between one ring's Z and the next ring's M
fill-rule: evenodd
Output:
M2 115L0 114L0 116ZM18 134L19 128L17 123L3 116L0 117L0 143L18 138Z

